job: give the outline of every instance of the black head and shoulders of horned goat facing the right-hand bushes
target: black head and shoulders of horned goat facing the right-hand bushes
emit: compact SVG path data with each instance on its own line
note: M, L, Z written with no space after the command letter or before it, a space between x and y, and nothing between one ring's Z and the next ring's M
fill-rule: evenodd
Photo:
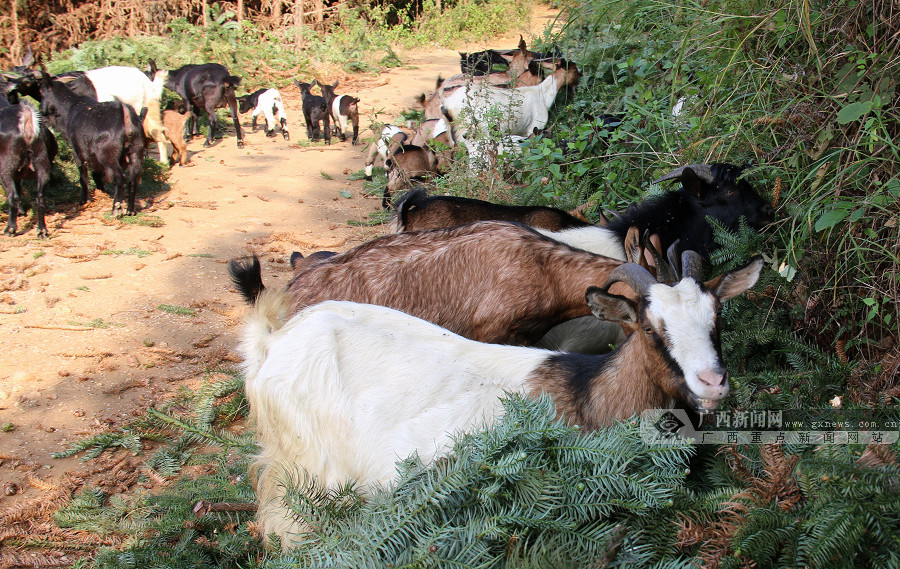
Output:
M691 164L656 180L681 181L681 188L666 192L641 204L630 207L606 226L625 239L632 225L659 235L662 250L666 251L680 240L682 251L696 251L708 257L718 245L713 241L712 226L706 217L713 217L724 227L734 230L741 217L747 224L760 229L774 217L772 205L760 197L747 180L738 179L745 167L734 164Z

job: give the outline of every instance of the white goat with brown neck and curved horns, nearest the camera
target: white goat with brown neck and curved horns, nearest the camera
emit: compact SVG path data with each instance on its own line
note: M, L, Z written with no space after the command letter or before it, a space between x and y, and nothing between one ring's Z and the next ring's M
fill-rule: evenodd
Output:
M694 255L694 256L691 256ZM263 292L240 346L245 389L262 449L259 527L290 546L302 531L282 500L286 477L305 470L328 486L387 484L395 461L428 462L454 433L493 421L505 392L549 394L569 423L597 429L672 399L714 409L729 391L719 355L720 302L753 286L762 259L700 283L685 255L673 286L625 264L586 301L599 318L636 331L600 356L484 344L375 305L326 301L287 319L292 299ZM637 303L606 292L632 287Z

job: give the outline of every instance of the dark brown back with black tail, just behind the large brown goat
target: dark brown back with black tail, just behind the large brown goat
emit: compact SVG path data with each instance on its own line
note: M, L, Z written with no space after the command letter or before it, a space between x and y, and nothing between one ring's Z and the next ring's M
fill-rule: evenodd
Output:
M590 225L553 207L503 205L456 196L429 196L422 188L410 190L400 198L396 218L398 232L453 227L486 220L517 221L550 231Z

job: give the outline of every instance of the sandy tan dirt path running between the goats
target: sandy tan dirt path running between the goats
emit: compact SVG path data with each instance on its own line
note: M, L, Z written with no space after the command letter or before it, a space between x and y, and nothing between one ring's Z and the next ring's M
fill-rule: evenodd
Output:
M546 8L535 14L526 40L552 18ZM459 49L512 48L518 33ZM456 50L400 57L403 67L378 76L323 78L362 99L361 130L375 116L395 120L439 74L459 69ZM237 362L244 305L228 280L229 259L259 254L267 286L280 287L292 251L343 251L390 231L348 225L380 210L362 181L347 180L363 168L364 146L298 145L306 143L299 90L282 96L291 141L260 129L247 132L242 150L233 132L212 148L191 142L194 166L176 167L171 190L142 204L158 227L104 219L110 201L98 192L86 209L48 217L49 240L35 239L30 226L0 237L0 510L86 469L52 453Z

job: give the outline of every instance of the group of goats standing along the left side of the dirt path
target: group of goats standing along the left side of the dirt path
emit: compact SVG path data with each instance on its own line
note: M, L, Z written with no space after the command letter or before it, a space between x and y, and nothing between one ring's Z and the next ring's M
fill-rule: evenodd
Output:
M185 65L178 69L160 70L150 60L149 70L111 66L89 71L73 71L56 76L34 69L29 51L22 65L0 77L0 183L6 190L10 213L5 235L18 231L17 217L25 214L20 198L21 180L36 179L34 197L35 226L38 237L49 235L44 220L44 187L50 168L59 152L54 130L72 146L81 183L80 204L88 201L89 175L98 189L111 184L115 217L135 213L135 196L141 183L147 143L155 142L159 160L169 164L168 142L172 143L172 160L187 165L187 136L199 134L199 116L205 113L209 131L204 146L210 146L217 129L216 109L231 111L238 148L244 137L239 112L253 109L252 127L256 130L259 115L266 120L266 135L275 136L276 127L286 140L290 138L287 116L277 89L259 89L237 97L235 89L241 78L231 75L218 63ZM296 83L296 82L295 82ZM318 121L324 123L324 138L331 142L330 111L334 109L334 127L345 139L344 132L352 123L353 143L359 138L359 113L354 97L337 95L333 85L322 85L323 96L309 95L312 84L297 83L303 91L303 111L311 140L319 137ZM180 111L161 111L163 88L181 98ZM27 95L40 102L40 112L20 102ZM316 120L313 123L313 119Z

